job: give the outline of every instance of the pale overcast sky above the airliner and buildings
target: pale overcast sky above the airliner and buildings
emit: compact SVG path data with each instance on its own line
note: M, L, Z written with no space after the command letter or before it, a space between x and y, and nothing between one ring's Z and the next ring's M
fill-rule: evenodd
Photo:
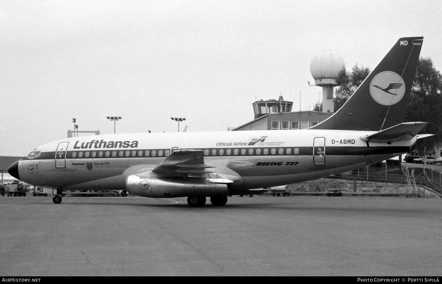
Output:
M73 129L227 131L256 99L312 109L321 50L372 70L400 37L423 36L442 70L440 1L1 1L0 155Z

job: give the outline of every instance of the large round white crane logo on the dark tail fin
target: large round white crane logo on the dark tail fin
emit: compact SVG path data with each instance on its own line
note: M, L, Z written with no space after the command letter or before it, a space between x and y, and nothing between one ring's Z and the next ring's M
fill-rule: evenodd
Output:
M404 80L395 72L381 72L371 80L370 94L372 98L381 105L394 105L404 97Z

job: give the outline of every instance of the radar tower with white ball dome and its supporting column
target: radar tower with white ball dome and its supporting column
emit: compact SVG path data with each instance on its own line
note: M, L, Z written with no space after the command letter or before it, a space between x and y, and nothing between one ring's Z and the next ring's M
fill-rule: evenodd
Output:
M342 57L333 50L323 50L313 57L310 73L315 85L322 87L322 111L333 112L333 88L339 86L339 71L345 69Z

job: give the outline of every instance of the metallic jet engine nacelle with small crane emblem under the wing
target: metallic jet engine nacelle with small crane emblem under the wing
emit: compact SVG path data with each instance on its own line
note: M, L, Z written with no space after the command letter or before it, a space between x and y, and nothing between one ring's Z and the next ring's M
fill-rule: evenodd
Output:
M206 178L143 178L132 174L126 179L126 189L143 197L184 197L228 194L225 183L212 183Z

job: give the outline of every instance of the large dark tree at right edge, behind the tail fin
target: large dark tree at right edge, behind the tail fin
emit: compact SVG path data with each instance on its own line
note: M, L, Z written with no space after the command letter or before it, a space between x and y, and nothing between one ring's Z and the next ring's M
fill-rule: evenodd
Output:
M442 75L431 58L419 58L405 121L430 122L421 133L436 134L419 139L416 151L435 153L442 145Z

